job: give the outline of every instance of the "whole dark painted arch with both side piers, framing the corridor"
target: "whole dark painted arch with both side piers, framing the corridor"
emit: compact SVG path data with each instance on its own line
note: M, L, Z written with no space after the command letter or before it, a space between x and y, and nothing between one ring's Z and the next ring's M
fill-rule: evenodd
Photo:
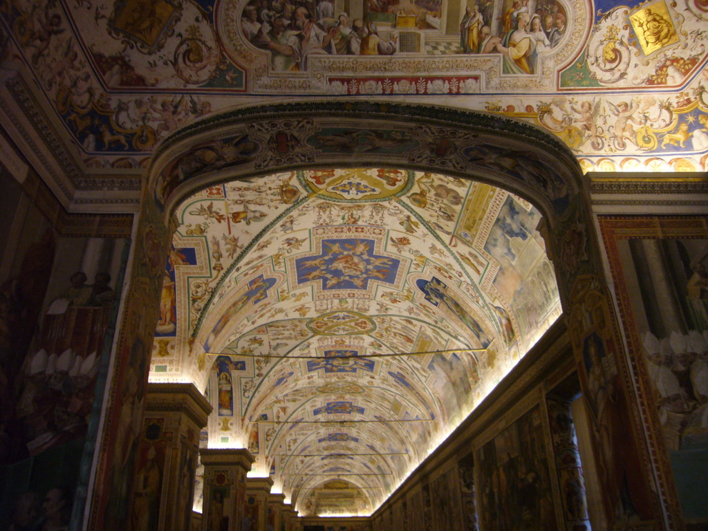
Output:
M602 463L600 481L608 493L607 520L615 521L625 510L617 506L617 499L644 518L648 498L646 483L635 481L641 476L639 465L610 451L622 438L634 436L633 419L628 415L616 331L576 159L563 144L535 127L422 106L323 102L247 108L185 127L157 150L143 195L115 398L109 409L115 427L103 439L108 447L118 447L116 452L103 452L99 474L111 470L120 474L116 464L127 462L130 433L121 428L120 411L139 401L136 382L139 376L142 382L147 377L134 374L131 358L149 355L161 290L159 273L176 205L215 183L325 167L397 168L472 178L536 205L547 222L543 231L547 251L554 261L578 372L593 411L593 445ZM608 388L617 394L610 396ZM103 486L103 496L115 491L108 481ZM94 517L101 522L105 505L95 503Z

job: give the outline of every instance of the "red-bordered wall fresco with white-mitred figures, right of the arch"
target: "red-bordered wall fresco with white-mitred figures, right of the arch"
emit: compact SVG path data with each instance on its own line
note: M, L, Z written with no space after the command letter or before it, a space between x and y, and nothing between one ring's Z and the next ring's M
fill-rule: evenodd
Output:
M708 218L600 217L664 501L687 529L708 525ZM670 478L673 476L673 481Z

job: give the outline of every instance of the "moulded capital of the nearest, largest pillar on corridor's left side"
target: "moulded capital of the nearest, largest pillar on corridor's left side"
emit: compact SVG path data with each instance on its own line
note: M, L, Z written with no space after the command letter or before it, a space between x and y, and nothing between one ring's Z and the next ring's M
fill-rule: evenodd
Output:
M207 425L212 406L194 384L147 384L145 412L184 413L200 428Z

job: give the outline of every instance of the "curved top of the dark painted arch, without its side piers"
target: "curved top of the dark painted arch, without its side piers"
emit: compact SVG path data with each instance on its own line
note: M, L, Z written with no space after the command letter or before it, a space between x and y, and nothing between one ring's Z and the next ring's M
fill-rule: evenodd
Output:
M169 217L195 190L322 167L396 167L504 188L554 227L580 193L558 138L512 118L430 105L313 101L232 110L179 130L156 150L149 190Z

